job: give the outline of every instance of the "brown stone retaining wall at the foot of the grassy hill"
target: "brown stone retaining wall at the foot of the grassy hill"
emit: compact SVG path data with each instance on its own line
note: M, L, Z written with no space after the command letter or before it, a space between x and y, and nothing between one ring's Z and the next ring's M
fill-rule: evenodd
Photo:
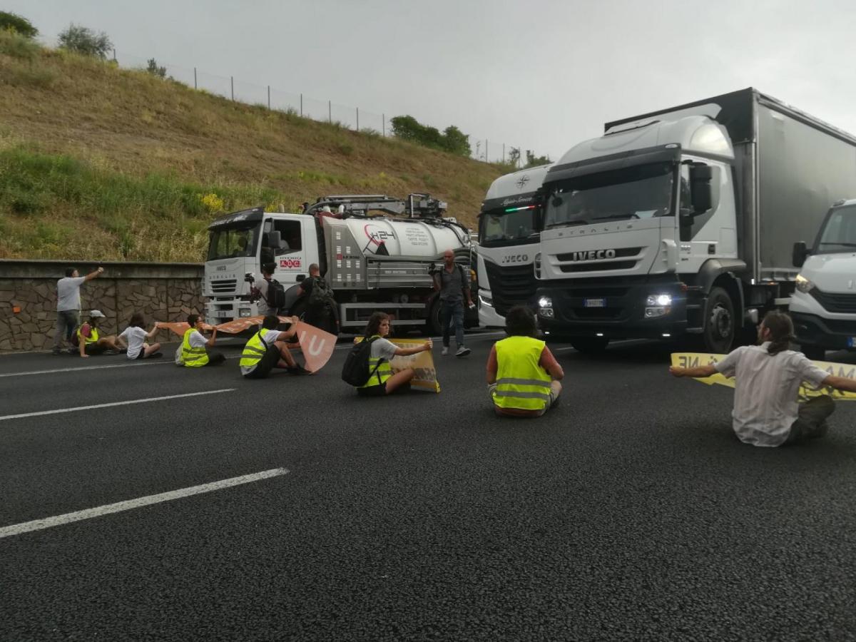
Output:
M104 274L80 286L80 306L107 316L102 333L118 334L134 312L153 321L183 321L205 312L202 300L204 266L189 263L69 264L64 261L0 260L0 353L46 350L56 330L56 281L68 267L86 276L98 265ZM175 341L167 330L158 341Z

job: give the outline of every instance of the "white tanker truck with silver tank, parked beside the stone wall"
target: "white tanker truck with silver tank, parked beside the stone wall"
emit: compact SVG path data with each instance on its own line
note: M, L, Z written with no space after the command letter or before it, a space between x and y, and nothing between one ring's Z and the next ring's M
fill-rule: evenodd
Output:
M266 263L276 265L273 278L286 289L283 312L300 316L306 302L297 296L299 285L314 263L335 298L324 330L358 333L372 312L383 311L397 330L439 334L432 275L443 252L454 250L465 273L474 275L469 230L443 217L445 209L428 194L341 195L318 199L300 214L256 207L219 218L209 226L205 318L219 324L256 316L251 287ZM467 310L465 325L478 323L478 312Z

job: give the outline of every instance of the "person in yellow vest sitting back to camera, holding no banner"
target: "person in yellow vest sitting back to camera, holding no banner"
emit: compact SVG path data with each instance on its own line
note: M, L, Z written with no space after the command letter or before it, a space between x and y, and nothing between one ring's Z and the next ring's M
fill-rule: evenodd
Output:
M528 307L515 306L505 315L508 337L490 348L487 383L497 414L540 417L559 399L565 376L562 366L535 336L538 324Z

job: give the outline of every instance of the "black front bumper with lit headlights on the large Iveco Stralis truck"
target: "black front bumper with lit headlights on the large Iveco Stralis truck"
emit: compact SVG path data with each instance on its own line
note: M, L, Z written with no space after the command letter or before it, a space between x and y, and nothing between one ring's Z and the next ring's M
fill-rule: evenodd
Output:
M553 282L534 300L552 335L660 339L687 330L687 293L674 274Z

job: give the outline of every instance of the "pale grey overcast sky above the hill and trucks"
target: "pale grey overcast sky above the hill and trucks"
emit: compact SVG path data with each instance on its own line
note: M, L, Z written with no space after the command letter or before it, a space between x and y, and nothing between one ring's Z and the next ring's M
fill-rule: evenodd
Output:
M603 122L746 86L856 133L852 0L2 4L49 45L74 21L108 33L121 63L234 75L259 102L266 85L331 99L360 107L360 127L376 126L368 112L454 124L491 158L506 143L556 159Z

